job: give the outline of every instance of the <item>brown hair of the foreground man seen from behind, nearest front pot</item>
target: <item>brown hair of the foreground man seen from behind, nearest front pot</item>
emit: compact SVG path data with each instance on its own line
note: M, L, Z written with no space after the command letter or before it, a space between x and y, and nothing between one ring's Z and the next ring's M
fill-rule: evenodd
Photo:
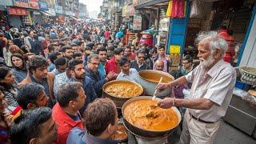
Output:
M93 136L102 134L106 127L115 123L116 107L110 98L97 98L84 113L86 130Z

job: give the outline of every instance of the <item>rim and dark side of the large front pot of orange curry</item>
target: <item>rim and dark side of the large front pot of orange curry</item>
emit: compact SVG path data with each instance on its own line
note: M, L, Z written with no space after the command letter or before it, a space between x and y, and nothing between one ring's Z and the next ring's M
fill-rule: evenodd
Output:
M124 110L126 108L126 106L131 103L131 102L134 102L134 101L138 101L138 100L141 100L141 99L152 99L152 97L150 96L140 96L140 97L135 97L135 98L131 98L130 100L126 101L123 106L122 106L122 115L124 116ZM157 100L160 100L160 98L157 98ZM176 114L178 115L178 123L177 123L177 126L179 124L179 122L181 122L181 114L180 112L178 111L178 109L176 107L171 107L170 109L173 109ZM174 128L170 129L170 130L165 130L165 131L151 131L151 130L143 130L143 129L140 129L136 126L133 126L130 122L128 122L126 120L126 117L124 116L123 118L123 122L124 122L124 126L126 126L126 129L129 130L132 134L136 134L137 136L141 137L141 138L162 138L162 137L165 137L166 135L169 135L171 133L174 132Z

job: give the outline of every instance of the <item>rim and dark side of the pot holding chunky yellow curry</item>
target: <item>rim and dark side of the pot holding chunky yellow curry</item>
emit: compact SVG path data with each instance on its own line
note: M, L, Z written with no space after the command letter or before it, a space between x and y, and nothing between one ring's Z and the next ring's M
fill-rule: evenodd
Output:
M103 90L103 96L106 97L106 98L110 98L114 101L115 105L117 106L117 108L121 109L122 108L122 105L130 98L117 98L117 97L114 97L114 95L110 95L110 94L107 94L106 93L106 86L109 86L110 84L113 84L113 83L117 83L117 82L128 82L128 83L133 83L134 85L137 85L140 90L142 91L143 93L143 88L142 86L140 86L138 83L136 82L130 82L130 81L126 81L126 80L114 80L114 81L110 81L110 82L106 82L105 85L103 86L102 90ZM139 95L142 95L139 94ZM137 96L139 96L137 95Z

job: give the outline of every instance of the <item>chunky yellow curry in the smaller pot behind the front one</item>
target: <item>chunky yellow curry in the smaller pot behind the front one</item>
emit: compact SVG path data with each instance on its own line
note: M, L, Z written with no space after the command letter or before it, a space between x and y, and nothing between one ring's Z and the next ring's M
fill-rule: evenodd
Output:
M142 87L133 82L114 82L106 86L106 94L116 98L134 98L142 94Z

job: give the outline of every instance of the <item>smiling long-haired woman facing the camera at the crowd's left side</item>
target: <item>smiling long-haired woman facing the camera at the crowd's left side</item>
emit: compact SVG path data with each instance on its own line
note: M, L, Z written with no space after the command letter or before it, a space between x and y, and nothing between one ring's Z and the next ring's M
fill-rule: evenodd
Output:
M10 56L11 64L13 66L13 74L17 82L22 82L26 78L26 61L23 58L22 54L12 54Z

